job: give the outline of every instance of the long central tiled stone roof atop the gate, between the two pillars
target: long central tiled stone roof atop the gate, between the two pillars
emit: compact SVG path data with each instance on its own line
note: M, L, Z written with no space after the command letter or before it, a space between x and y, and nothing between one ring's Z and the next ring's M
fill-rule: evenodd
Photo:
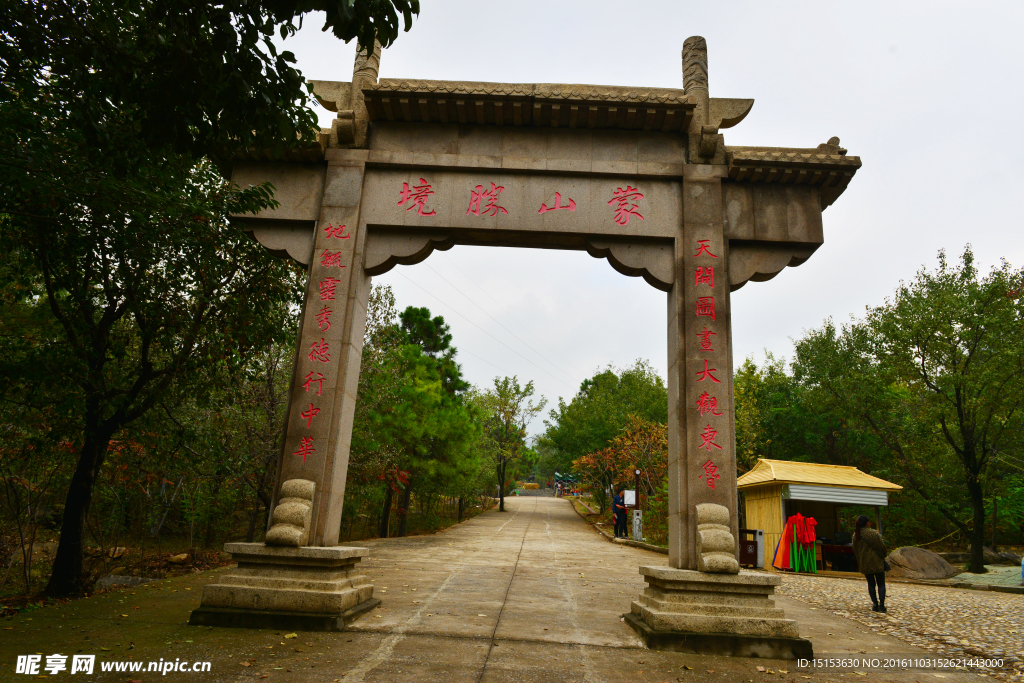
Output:
M685 130L682 90L558 83L381 79L362 90L372 121Z

